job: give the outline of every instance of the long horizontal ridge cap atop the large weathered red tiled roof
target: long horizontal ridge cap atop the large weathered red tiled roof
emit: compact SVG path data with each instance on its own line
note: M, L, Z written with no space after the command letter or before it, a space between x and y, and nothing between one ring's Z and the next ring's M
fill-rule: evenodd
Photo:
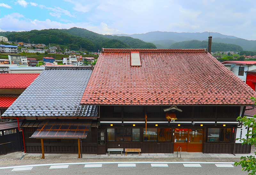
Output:
M102 48L101 52L207 52L207 49L117 49Z

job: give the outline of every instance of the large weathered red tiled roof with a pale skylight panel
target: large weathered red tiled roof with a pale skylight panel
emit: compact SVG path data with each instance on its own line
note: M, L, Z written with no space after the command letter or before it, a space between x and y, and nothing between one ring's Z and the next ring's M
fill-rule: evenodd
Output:
M204 49L102 49L81 104L251 105L256 96ZM131 66L139 51L141 66Z

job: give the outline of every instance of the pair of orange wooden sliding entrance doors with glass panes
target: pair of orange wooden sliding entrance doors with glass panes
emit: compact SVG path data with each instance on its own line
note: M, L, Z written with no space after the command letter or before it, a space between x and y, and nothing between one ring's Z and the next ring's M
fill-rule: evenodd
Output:
M202 152L204 129L175 128L173 151ZM180 148L178 149L180 151Z

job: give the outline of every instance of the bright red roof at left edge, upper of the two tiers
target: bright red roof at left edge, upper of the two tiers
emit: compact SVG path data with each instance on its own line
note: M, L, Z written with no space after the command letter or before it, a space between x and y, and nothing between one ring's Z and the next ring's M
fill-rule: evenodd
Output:
M0 89L26 89L39 74L0 74Z

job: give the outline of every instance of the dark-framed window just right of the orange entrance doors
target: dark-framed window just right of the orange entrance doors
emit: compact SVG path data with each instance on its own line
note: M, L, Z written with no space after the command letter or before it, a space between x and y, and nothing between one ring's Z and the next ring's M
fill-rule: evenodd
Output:
M208 128L207 142L230 142L232 128Z

